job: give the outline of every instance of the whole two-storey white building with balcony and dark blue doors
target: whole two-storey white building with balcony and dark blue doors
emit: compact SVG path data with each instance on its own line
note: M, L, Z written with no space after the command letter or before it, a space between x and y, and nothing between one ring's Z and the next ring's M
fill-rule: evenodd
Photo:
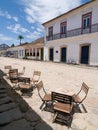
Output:
M74 8L43 26L45 61L98 66L98 0Z

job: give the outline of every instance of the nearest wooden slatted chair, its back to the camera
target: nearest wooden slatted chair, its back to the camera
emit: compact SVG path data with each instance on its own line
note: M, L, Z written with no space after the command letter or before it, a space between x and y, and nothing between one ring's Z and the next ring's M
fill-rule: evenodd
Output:
M68 127L70 127L73 119L72 96L62 94L62 93L52 92L52 101L54 101L53 109L55 112L53 122L65 124Z

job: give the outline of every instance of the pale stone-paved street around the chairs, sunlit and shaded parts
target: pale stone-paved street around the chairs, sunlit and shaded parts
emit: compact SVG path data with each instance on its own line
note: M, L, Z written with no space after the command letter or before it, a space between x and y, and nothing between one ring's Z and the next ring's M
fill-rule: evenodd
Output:
M41 70L40 80L43 80L46 91L58 90L65 93L72 91L78 92L82 82L87 83L90 90L83 104L88 113L75 113L71 128L69 129L66 126L52 123L53 114L39 109L42 101L39 98L36 89L33 91L33 95L30 98L27 98L25 96L21 96L19 91L13 90L12 84L6 79L7 82L4 80L3 87L7 88L7 93L4 93L5 90L1 89L0 99L6 96L7 98L2 99L1 104L8 102L9 100L12 100L12 102L10 102L11 106L8 105L9 103L6 103L7 108L2 106L0 108L0 114L4 111L6 112L11 110L11 107L14 110L18 107L18 110L22 113L22 117L20 119L23 119L23 122L25 120L31 129L34 130L98 130L98 67L85 67L0 57L0 69L4 71L4 66L9 64L12 65L13 68L18 69L21 69L23 65L26 66L25 76L28 77L32 77L34 70ZM5 103L2 105L5 105ZM13 121L0 125L0 130L5 126L7 126L5 127L7 130L9 127L9 129L14 130L14 126L19 127L18 129L22 129L21 127L24 127L19 119L15 119L14 116L10 118L10 120L12 119ZM8 122L8 119L5 121Z

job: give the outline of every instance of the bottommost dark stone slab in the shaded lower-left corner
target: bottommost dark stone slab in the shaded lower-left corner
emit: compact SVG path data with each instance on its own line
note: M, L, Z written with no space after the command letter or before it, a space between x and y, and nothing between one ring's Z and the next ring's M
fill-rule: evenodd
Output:
M0 130L33 130L25 119L14 121Z

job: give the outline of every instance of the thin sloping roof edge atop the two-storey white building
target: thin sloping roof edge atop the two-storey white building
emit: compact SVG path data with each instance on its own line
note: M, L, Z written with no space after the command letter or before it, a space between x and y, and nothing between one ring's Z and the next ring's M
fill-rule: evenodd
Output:
M76 7L76 8L74 8L74 9L72 9L72 10L66 12L66 13L63 13L63 14L61 14L61 15L59 15L59 16L57 16L57 17L55 17L55 18L53 18L53 19L51 19L51 20L49 20L49 21L47 21L47 22L45 22L45 23L43 23L42 25L44 26L45 24L47 24L47 23L49 23L49 22L52 22L53 20L55 20L55 19L57 19L57 18L60 18L60 17L62 17L63 15L66 15L66 14L68 14L68 13L74 11L74 10L77 10L77 9L79 9L79 8L81 8L81 7L85 6L85 5L87 5L87 4L90 4L91 2L94 2L94 1L96 1L96 0L91 0L91 1L89 1L89 2L87 2L87 3L85 3L85 4L82 4L82 5L80 5L80 6Z

